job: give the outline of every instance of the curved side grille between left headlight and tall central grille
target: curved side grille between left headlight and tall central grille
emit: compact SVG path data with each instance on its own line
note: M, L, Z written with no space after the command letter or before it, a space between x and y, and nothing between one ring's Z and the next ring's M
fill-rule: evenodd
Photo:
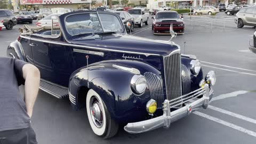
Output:
M163 81L156 74L146 72L144 76L147 79L150 98L157 101L157 107L162 108L164 102Z

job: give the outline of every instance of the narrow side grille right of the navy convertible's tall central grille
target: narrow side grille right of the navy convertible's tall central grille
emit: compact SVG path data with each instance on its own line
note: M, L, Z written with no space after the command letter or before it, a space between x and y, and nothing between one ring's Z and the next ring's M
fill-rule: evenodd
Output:
M191 78L188 68L184 65L181 66L181 79L182 79L182 95L190 92Z

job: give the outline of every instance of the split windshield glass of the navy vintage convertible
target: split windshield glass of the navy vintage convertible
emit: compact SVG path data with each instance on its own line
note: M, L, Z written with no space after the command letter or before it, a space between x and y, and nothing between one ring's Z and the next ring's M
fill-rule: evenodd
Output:
M75 14L68 16L65 22L68 33L72 36L91 33L123 32L122 23L113 14L99 13L99 17L97 13Z

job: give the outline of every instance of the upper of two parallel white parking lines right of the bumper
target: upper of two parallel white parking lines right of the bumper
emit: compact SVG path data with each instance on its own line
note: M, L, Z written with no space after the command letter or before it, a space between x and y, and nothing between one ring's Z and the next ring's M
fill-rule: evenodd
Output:
M214 107L214 106L210 106L210 105L207 108L215 110L215 111L219 111L220 113L227 114L227 115L239 118L239 119L243 119L244 121L247 121L247 122L251 122L251 123L256 124L256 120L252 119L250 117L239 115L239 114L233 113L231 111L228 111L228 110L225 110L225 109L221 109L221 108L218 108L218 107Z

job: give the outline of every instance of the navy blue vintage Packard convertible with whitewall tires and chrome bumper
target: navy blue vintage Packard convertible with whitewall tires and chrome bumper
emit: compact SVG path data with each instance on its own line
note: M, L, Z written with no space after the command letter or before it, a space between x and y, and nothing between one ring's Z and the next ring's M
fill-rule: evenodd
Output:
M201 63L179 45L127 35L111 12L71 12L58 20L59 28L25 25L7 55L40 70L41 90L68 97L75 110L86 107L95 134L113 137L121 123L129 133L168 128L207 108L215 73L204 77Z

